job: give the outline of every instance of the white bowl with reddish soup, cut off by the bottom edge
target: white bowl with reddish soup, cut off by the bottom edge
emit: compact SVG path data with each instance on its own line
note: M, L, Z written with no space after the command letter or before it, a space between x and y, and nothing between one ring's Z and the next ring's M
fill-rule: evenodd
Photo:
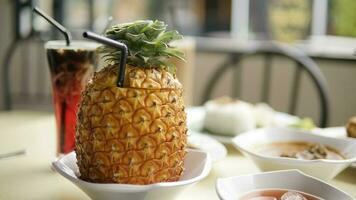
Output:
M224 200L352 200L347 193L299 170L282 170L219 178Z

